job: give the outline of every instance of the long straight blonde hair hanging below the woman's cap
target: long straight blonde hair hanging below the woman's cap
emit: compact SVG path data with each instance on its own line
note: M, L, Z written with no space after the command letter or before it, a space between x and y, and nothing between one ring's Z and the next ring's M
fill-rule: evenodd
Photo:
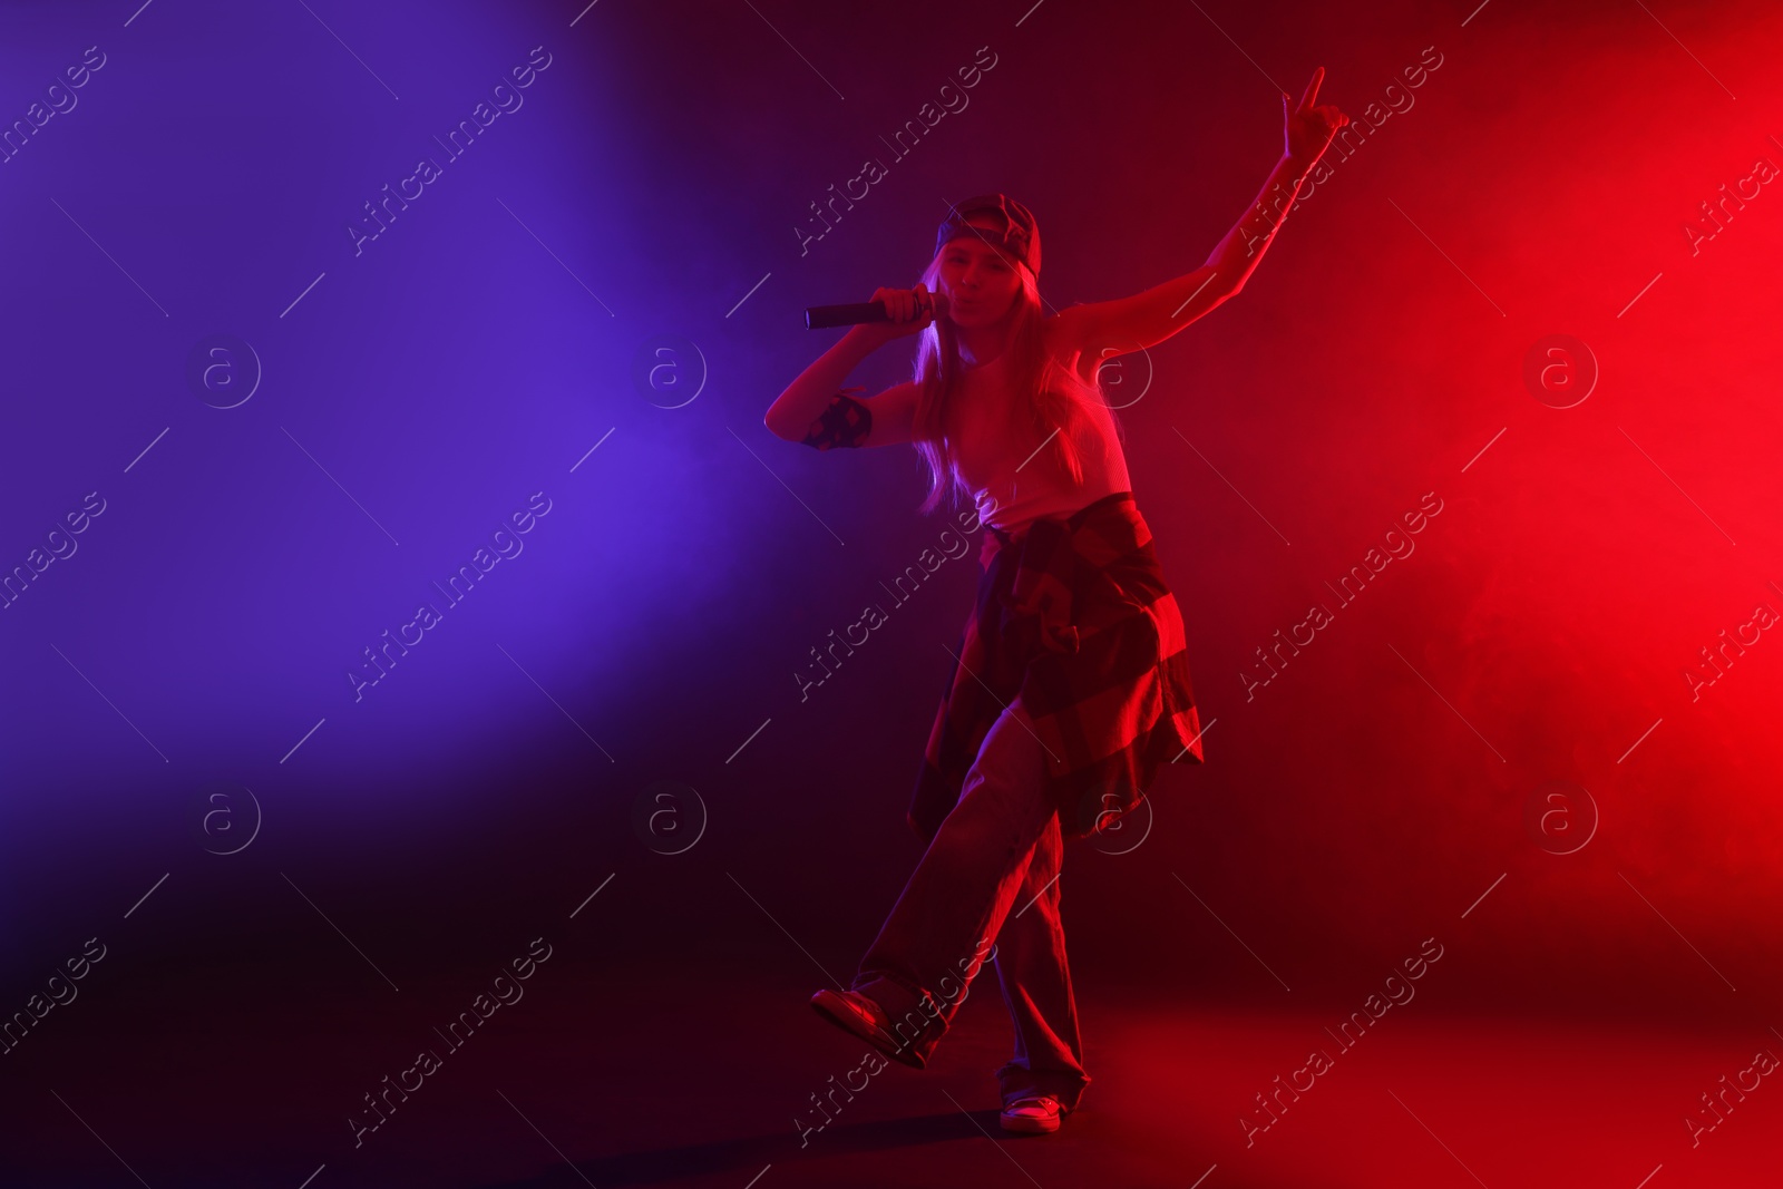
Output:
M929 267L922 271L922 283L931 292L940 289L943 255L945 246L943 251L934 253ZM1084 467L1079 437L1089 428L1089 410L1075 385L1056 383L1056 376L1063 369L1047 351L1045 330L1041 326L1045 316L1039 308L1039 282L1027 264L1015 262L1015 269L1022 285L1016 289L1013 308L1007 314L1007 317L1015 319L1009 340L1007 380L1015 387L1015 392L1029 398L1029 414L1043 439L1052 431L1052 426L1059 426L1059 433L1052 435L1048 449L1052 449L1061 469L1072 476L1072 483L1082 483ZM916 408L911 422L911 442L929 469L929 496L918 508L924 515L933 513L943 496L950 496L950 503L954 504L957 504L959 496L970 496L965 480L959 476L954 446L945 437L947 414L959 390L963 371L959 333L954 323L945 317L929 323L916 342L913 376L916 383ZM1100 380L1097 381L1097 389L1100 390ZM1113 410L1109 410L1109 417L1114 417ZM1116 433L1120 433L1118 417L1114 417L1114 424Z

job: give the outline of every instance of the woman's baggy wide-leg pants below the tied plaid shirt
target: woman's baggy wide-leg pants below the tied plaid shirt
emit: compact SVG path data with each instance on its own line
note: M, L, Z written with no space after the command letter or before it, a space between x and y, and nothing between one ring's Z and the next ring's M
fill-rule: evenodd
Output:
M927 1055L991 961L1015 1023L1015 1057L997 1071L1004 1105L1056 1095L1075 1111L1089 1075L1059 920L1064 843L1043 775L1045 750L1016 699L986 733L852 989Z

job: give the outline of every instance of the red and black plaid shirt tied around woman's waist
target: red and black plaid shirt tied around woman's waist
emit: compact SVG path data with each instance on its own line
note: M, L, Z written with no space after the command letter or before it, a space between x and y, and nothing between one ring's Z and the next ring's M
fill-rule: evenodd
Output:
M927 843L979 747L1022 697L1064 838L1145 799L1159 765L1205 763L1182 615L1132 492L1016 535L986 524L977 606L929 731L908 820Z

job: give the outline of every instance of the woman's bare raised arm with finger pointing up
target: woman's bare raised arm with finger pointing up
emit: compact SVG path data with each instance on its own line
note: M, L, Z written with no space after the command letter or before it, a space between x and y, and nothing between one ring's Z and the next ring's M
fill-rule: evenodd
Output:
M1350 118L1328 103L1314 105L1325 68L1312 71L1300 103L1289 109L1282 94L1284 150L1257 193L1257 201L1232 225L1202 267L1118 301L1095 301L1059 310L1057 330L1072 349L1097 355L1104 348L1138 351L1171 337L1245 287L1277 228L1300 193L1300 182Z

